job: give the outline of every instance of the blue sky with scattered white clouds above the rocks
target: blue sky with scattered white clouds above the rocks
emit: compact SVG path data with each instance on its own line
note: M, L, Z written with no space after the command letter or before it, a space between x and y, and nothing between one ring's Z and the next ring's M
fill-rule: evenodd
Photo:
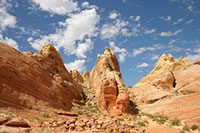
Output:
M109 46L133 86L163 53L200 59L200 0L0 0L0 41L22 52L49 42L80 72Z

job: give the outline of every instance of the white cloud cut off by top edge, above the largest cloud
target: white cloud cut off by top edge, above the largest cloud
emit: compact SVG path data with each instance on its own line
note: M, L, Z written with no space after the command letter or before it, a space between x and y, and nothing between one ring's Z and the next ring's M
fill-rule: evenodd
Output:
M72 0L32 0L40 6L43 11L53 14L66 15L78 10L78 4Z

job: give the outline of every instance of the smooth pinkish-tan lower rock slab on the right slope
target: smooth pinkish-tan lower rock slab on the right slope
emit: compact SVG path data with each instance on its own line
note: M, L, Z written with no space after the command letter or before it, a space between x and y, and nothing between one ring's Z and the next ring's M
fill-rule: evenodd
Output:
M147 113L163 113L169 117L177 117L188 124L200 124L200 93L176 96L163 99L154 104L141 105L139 108Z

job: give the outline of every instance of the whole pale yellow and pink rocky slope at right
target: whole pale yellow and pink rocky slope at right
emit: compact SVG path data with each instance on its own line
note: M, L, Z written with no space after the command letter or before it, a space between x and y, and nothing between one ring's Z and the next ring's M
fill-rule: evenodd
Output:
M200 65L163 54L155 68L131 90L138 108L200 124ZM194 93L194 94L193 94Z

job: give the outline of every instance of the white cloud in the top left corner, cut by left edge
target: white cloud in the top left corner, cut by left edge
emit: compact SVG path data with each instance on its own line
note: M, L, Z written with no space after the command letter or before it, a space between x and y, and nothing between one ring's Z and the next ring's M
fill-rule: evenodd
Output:
M7 9L10 7L12 7L12 5L6 2L6 0L0 1L0 32L5 30L6 27L16 27L16 17L9 14L7 11Z

